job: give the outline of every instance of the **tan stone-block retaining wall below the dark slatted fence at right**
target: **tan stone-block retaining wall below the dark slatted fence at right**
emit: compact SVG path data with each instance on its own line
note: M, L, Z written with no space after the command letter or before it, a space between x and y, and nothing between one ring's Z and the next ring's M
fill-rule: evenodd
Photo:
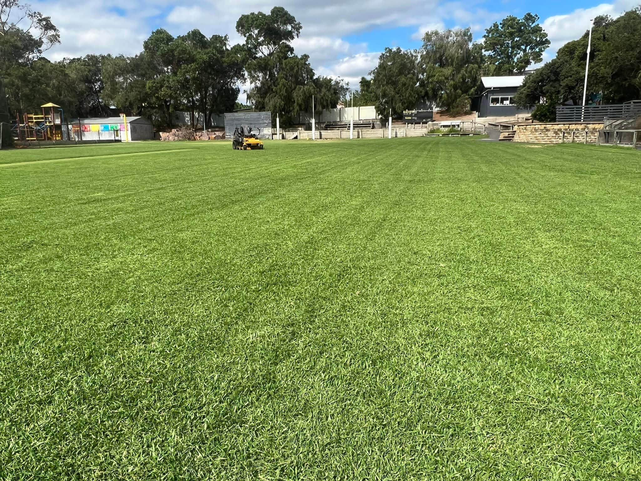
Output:
M603 122L599 124L558 124L555 122L550 124L516 125L514 141L530 142L532 144L560 144L562 142L583 144L587 138L588 144L595 144L601 129L603 129ZM565 131L565 134L563 134L563 131ZM572 131L574 131L574 136Z

